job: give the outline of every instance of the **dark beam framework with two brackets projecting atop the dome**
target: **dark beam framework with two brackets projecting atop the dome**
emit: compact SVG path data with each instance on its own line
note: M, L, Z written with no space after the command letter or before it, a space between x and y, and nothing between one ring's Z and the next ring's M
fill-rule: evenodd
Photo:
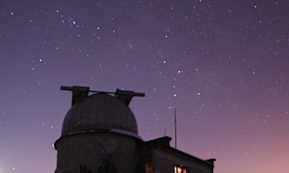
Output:
M145 93L138 93L134 91L120 90L117 89L116 92L105 92L105 91L90 91L89 87L80 87L80 86L61 86L61 90L72 91L72 105L79 102L81 99L88 96L88 92L96 92L96 93L105 93L105 94L115 94L115 97L123 101L127 106L130 104L132 98L134 96L144 97Z

